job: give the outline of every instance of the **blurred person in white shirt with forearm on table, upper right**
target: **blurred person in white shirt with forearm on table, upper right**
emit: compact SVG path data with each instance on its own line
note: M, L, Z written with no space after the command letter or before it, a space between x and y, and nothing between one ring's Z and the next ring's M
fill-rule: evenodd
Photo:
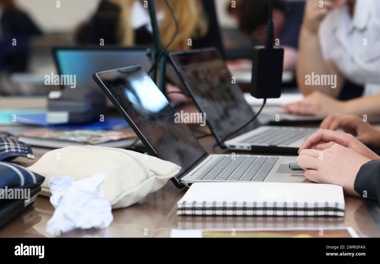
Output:
M380 1L324 0L322 4L307 0L297 66L299 89L306 98L283 106L285 112L366 115L369 121L380 121ZM306 77L312 75L329 76L334 85L331 81L310 85ZM356 89L346 89L347 83ZM361 95L360 85L363 97L352 99Z

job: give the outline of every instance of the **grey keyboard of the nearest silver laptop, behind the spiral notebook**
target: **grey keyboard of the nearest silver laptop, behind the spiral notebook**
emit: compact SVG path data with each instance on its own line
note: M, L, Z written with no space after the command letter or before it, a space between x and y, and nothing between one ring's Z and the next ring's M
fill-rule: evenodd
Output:
M231 156L218 158L196 180L263 182L279 157Z

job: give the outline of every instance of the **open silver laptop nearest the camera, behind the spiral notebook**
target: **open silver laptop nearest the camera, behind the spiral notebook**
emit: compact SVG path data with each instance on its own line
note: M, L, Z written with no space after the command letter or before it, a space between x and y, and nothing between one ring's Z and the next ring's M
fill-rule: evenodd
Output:
M210 181L309 182L290 171L296 157L208 155L190 128L175 121L174 108L140 66L95 72L93 78L149 152L181 167L172 179L179 188Z

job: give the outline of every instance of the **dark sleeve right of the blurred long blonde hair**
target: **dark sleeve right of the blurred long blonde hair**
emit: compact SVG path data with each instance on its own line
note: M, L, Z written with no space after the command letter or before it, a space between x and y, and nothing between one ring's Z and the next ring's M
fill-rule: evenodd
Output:
M202 4L203 10L209 22L209 30L205 36L193 40L193 49L215 47L219 51L220 55L222 55L222 58L225 59L222 33L220 32L215 2L214 0L202 0Z

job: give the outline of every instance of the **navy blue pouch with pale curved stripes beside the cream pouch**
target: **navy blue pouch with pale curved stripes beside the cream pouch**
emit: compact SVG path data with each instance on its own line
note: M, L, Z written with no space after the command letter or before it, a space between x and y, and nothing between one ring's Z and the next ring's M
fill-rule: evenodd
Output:
M45 177L28 169L6 161L0 161L0 190L35 189L40 186Z

